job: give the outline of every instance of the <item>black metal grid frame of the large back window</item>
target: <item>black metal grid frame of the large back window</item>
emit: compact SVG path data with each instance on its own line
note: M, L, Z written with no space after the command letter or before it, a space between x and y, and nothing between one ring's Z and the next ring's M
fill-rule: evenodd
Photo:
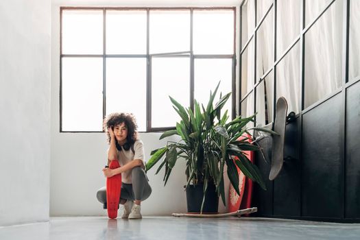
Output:
M151 96L152 96L152 80L151 80L151 59L154 56L169 55L169 56L183 56L182 54L189 54L190 56L190 107L193 109L194 103L194 60L197 58L228 58L232 59L232 119L235 118L237 114L236 107L236 28L237 28L237 11L236 7L180 7L180 8L118 8L118 7L60 7L60 132L104 132L101 131L64 131L62 130L62 58L82 58L82 57L95 57L103 59L103 119L106 117L106 59L107 58L146 58L147 59L147 69L146 69L146 130L139 132L164 132L166 130L175 129L174 127L163 127L163 128L153 128L152 119L151 119ZM62 53L62 12L64 10L102 10L103 11L103 53L102 54L63 54ZM106 11L107 10L144 10L147 12L147 50L146 54L106 54ZM190 20L190 51L187 52L178 52L178 53L160 53L160 54L150 54L149 53L149 12L151 10L190 10L191 20ZM193 11L194 10L232 10L234 14L234 34L233 34L233 53L232 54L193 54Z

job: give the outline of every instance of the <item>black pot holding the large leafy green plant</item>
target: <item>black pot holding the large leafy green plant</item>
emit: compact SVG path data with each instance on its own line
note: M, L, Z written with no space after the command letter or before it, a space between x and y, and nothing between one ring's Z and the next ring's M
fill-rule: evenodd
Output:
M187 187L187 211L188 213L200 213L204 184L189 185ZM215 184L208 184L206 191L206 197L204 202L204 208L202 213L218 213L219 197L216 193Z

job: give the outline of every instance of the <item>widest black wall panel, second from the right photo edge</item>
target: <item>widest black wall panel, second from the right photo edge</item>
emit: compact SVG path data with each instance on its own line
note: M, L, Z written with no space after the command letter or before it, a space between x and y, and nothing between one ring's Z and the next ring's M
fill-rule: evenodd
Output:
M342 218L341 94L303 115L302 216Z

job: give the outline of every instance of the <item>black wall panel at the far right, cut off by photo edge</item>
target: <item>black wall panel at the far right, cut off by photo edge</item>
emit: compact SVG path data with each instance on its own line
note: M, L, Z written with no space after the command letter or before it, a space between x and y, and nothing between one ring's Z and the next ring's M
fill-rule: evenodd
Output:
M360 217L360 82L346 96L345 217Z

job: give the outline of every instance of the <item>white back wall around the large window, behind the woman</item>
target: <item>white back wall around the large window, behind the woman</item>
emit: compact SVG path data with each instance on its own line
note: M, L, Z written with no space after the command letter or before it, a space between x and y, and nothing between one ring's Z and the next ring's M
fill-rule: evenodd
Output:
M120 1L121 2L121 1ZM69 1L53 0L52 2L52 56L51 56L51 190L50 215L106 215L106 211L96 199L96 191L105 185L105 178L101 169L106 164L106 136L103 133L60 133L59 132L59 86L60 86L60 6L153 6L154 1L130 1L130 4L120 4L119 1ZM156 1L165 6L168 1ZM171 1L172 5L176 5ZM186 1L178 1L184 5ZM205 1L202 1L204 3ZM214 5L215 1L211 5ZM235 1L232 1L235 2ZM239 2L239 1L237 1ZM86 4L88 3L88 4ZM108 5L106 5L108 3ZM187 5L194 5L189 3ZM217 1L215 5L224 5ZM236 5L232 3L230 5ZM237 4L239 5L239 3ZM239 11L237 11L239 16ZM239 51L239 49L237 49ZM239 55L239 54L238 54ZM239 62L239 60L238 60ZM237 76L239 76L237 69ZM237 77L239 79L239 77ZM149 153L165 145L165 141L158 141L159 133L142 133L140 138L145 145L145 157ZM173 169L167 186L164 187L163 171L154 175L157 167L148 173L152 186L152 195L143 202L143 215L170 215L174 212L187 211L184 184L184 163L178 163ZM226 181L228 186L228 181ZM226 208L219 204L219 211Z

